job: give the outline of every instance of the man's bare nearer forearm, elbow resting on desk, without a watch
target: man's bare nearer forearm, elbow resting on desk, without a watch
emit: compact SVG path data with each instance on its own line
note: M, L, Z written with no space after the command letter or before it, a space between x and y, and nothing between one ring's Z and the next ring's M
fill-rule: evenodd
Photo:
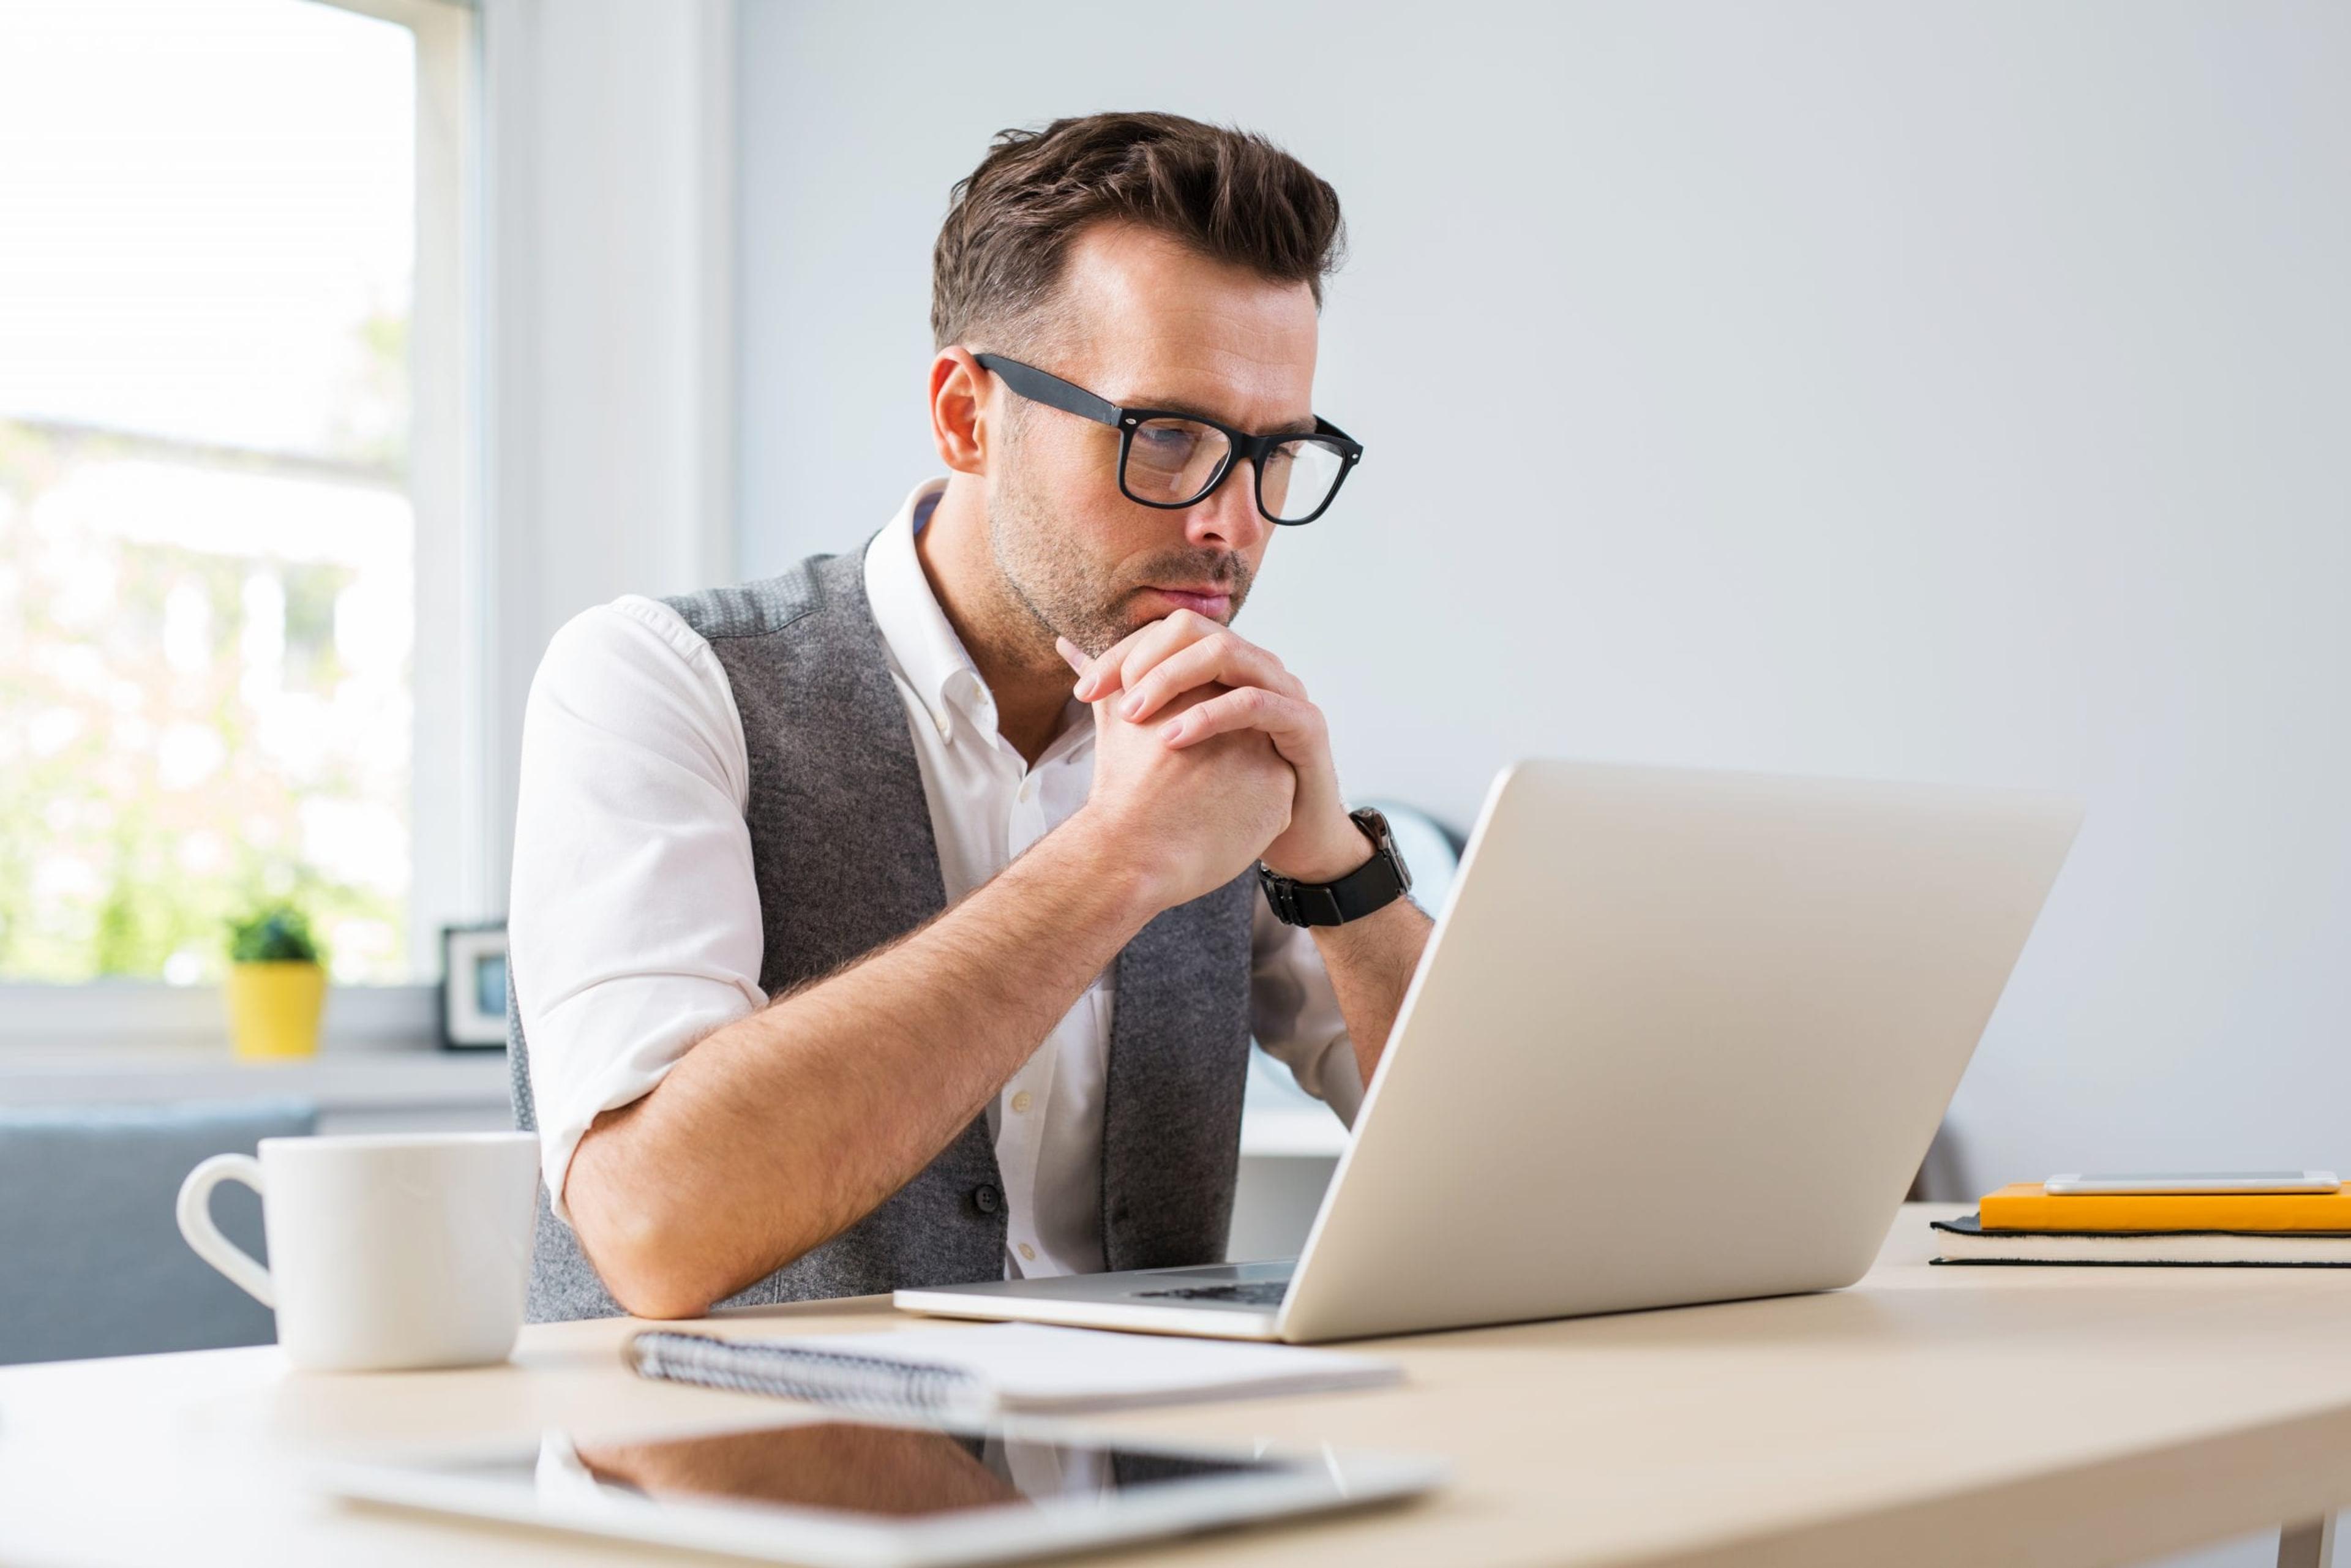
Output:
M1157 914L1072 818L903 940L696 1044L571 1159L574 1229L614 1298L691 1316L922 1171Z

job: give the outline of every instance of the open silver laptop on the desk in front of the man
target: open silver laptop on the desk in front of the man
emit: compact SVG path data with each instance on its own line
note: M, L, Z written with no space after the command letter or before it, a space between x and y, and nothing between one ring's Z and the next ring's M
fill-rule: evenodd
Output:
M1848 1286L2078 825L2052 795L1523 762L1300 1258L896 1302L1314 1342Z

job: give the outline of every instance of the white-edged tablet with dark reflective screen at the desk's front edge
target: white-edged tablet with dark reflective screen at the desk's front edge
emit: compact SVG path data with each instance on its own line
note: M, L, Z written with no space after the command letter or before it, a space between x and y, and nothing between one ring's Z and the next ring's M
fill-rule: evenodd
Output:
M341 1497L811 1568L945 1568L1408 1497L1441 1465L813 1410L320 1465Z

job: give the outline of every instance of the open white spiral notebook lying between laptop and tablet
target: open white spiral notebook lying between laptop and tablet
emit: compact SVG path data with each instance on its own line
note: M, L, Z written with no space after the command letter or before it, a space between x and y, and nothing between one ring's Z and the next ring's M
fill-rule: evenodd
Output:
M644 1378L959 1418L1317 1394L1404 1378L1394 1361L1335 1349L1041 1324L790 1340L647 1331L628 1340L625 1356Z

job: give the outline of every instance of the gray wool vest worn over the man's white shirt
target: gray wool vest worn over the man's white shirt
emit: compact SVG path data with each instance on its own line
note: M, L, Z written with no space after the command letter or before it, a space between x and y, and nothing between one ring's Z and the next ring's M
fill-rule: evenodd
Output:
M670 599L717 654L750 752L752 867L781 994L945 907L907 710L865 602L863 552L816 555L741 588ZM1117 959L1103 1100L1103 1255L1112 1269L1225 1255L1248 1072L1244 875L1159 914ZM520 990L508 983L515 1124L536 1128ZM938 1041L952 1051L955 1041ZM658 1093L658 1091L656 1091ZM726 1307L868 1295L1004 1274L1004 1187L987 1119L879 1208L726 1298ZM616 1316L578 1239L538 1192L531 1321Z

